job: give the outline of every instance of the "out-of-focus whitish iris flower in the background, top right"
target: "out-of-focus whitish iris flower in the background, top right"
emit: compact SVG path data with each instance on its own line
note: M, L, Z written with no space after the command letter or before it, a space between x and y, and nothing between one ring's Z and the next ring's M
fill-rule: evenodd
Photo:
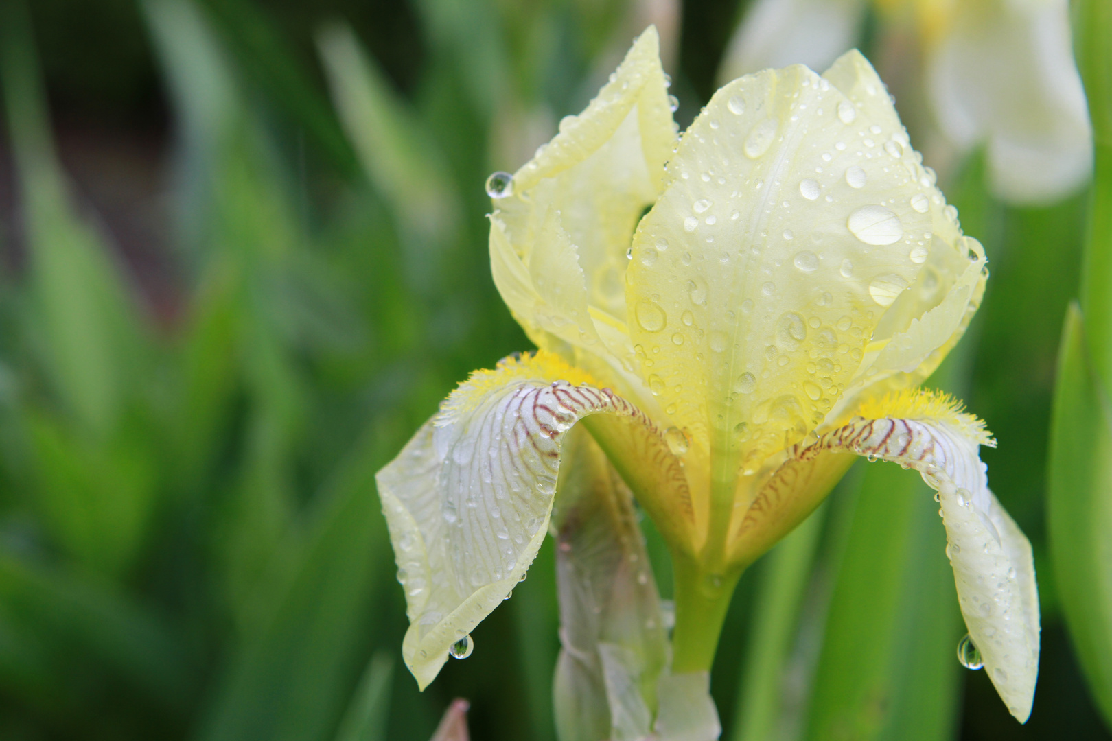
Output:
M1089 179L1092 132L1068 0L876 0L881 33L910 24L934 122L959 154L984 146L990 187L1037 204ZM867 0L757 0L719 79L791 62L823 67L857 43ZM915 53L915 50L909 50Z

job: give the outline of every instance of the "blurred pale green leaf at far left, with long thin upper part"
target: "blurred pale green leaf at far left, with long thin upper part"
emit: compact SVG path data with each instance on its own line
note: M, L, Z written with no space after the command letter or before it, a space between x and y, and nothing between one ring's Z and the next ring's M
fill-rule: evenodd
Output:
M27 337L64 411L105 437L123 413L141 368L141 312L102 236L77 216L67 192L31 38L22 4L6 4L0 74L27 224Z

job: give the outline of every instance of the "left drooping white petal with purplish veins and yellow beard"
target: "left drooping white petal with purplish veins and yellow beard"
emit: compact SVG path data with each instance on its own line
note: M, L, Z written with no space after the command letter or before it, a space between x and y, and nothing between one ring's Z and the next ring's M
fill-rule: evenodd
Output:
M683 479L653 423L588 381L544 351L477 371L378 472L410 622L403 658L423 689L525 577L547 531L560 447L579 419L625 420L655 462L644 475Z

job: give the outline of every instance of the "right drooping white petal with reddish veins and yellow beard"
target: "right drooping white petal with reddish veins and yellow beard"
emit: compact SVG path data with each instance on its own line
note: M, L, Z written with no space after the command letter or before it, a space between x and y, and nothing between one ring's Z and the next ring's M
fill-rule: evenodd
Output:
M989 490L983 423L942 394L909 391L865 404L860 417L797 445L746 520L774 509L780 477L798 475L831 452L853 452L919 471L939 492L957 601L984 669L1009 711L1025 722L1039 673L1039 594L1031 544ZM742 528L746 522L742 523ZM738 541L742 539L739 538Z

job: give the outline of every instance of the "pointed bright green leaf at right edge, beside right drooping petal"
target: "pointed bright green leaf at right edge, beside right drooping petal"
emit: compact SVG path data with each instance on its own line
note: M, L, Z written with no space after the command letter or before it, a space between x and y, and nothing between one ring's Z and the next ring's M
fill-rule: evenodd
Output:
M1112 725L1112 409L1071 304L1062 330L1046 501L1062 611L1096 705Z

